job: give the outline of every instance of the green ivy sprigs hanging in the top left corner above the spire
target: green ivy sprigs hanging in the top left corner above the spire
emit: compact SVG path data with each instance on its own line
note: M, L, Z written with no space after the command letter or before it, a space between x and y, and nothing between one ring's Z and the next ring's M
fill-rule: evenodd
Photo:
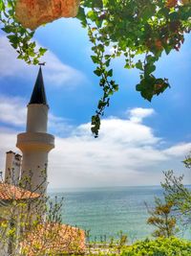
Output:
M38 64L46 49L37 49L32 41L34 32L27 30L15 19L15 0L0 0L0 28L7 33L11 46L18 57L28 64Z

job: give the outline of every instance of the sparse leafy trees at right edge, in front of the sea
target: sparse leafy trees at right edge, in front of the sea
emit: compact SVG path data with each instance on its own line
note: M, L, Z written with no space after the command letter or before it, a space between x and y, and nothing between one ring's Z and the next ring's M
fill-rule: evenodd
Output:
M191 169L191 154L186 156L183 163L186 168ZM155 198L154 209L149 209L145 204L151 215L147 223L157 227L153 236L169 238L179 232L177 220L183 226L191 223L191 191L183 185L183 175L176 176L172 170L163 174L163 201Z

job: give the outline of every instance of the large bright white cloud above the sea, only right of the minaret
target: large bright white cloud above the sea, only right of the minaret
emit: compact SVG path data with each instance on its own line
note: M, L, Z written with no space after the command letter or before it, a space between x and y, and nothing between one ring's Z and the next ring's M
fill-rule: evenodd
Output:
M174 169L177 175L183 172L185 183L189 183L189 173L183 169L181 160L185 151L191 149L191 143L161 149L159 143L165 142L155 136L152 128L132 121L134 113L138 117L137 108L132 109L128 120L103 120L98 139L91 135L90 124L73 129L67 138L56 137L55 149L50 154L52 186L159 184L162 171L169 169ZM154 110L139 109L139 113L142 120L143 115L149 116Z

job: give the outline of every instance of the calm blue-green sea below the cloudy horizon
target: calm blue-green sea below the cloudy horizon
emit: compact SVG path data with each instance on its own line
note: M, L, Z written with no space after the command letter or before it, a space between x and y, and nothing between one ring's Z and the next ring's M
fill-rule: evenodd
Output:
M107 187L49 190L51 198L64 198L64 223L86 230L89 242L109 242L127 235L129 243L151 238L154 227L147 224L147 207L162 198L160 186ZM178 236L191 240L191 227L180 226Z

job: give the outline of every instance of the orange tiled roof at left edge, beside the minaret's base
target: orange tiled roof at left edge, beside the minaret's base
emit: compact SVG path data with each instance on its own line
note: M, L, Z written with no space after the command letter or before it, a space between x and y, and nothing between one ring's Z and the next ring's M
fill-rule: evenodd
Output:
M8 183L0 182L0 200L24 200L39 198L40 195L31 191L13 186Z

